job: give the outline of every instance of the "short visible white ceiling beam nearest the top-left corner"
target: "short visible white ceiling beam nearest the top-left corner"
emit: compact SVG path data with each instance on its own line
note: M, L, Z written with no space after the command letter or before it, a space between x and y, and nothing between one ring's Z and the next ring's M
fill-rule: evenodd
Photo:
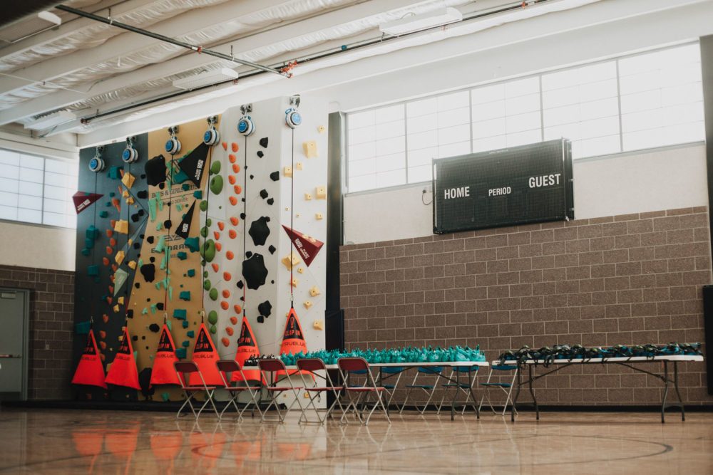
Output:
M150 4L156 3L156 1L158 0L128 0L116 6L113 6L111 9L111 16L115 18L120 18L120 16L123 16L125 14L133 14L136 11L145 9L146 6ZM106 14L105 11L93 10L93 12L98 15ZM63 24L61 24L57 28L52 28L50 30L43 31L42 33L30 36L29 38L26 38L21 41L16 41L15 43L11 43L8 46L0 48L0 63L7 56L16 53L24 53L25 51L28 51L31 48L36 48L46 43L52 43L53 41L61 41L64 38L67 38L68 36L72 36L78 30L97 25L98 23L96 21L90 20L88 18L71 15L71 19L69 21L63 22ZM119 30L116 31L117 34L120 33Z

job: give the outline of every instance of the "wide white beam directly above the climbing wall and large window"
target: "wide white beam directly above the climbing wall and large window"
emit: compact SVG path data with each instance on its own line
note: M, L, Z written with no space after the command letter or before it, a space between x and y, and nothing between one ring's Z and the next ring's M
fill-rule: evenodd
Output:
M655 6L667 3L650 0ZM289 81L275 81L240 90L222 98L212 98L190 107L157 113L147 118L117 122L78 136L81 147L109 142L116 137L156 130L172 123L194 120L241 103L292 93L314 93L330 101L341 101L342 110L376 103L403 100L417 95L462 88L509 75L521 75L581 61L593 61L650 48L687 41L712 34L710 1L689 2L685 8L656 9L640 16L632 13L637 0L601 2L581 9L540 16L528 21L491 28L475 35L449 38L429 45L353 61L341 66L296 75ZM695 3L699 3L696 5ZM620 4L607 20L602 6ZM538 32L539 36L533 36ZM478 45L478 46L474 46ZM474 51L478 48L478 51ZM449 57L443 56L449 51ZM428 67L424 65L428 64ZM436 86L437 84L437 86ZM127 114L128 115L128 114Z

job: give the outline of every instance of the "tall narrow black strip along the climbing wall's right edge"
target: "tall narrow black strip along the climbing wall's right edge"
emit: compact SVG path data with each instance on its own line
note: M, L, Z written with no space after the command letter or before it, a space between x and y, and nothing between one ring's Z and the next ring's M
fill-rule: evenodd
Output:
M342 156L344 116L329 114L329 152L327 159L327 310L324 331L327 349L341 342L344 345L344 323L339 295L339 246L342 245L344 203L342 201Z

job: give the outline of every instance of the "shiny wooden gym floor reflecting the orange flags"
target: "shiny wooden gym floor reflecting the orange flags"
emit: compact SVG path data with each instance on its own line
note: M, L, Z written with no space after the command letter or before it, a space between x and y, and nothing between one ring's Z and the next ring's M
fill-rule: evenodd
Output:
M374 414L368 427L170 412L0 409L0 474L711 474L713 414Z

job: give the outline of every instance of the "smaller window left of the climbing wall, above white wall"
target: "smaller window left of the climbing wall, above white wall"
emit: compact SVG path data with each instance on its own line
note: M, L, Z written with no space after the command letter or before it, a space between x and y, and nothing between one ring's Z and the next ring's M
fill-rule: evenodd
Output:
M76 164L0 149L0 219L74 228Z

